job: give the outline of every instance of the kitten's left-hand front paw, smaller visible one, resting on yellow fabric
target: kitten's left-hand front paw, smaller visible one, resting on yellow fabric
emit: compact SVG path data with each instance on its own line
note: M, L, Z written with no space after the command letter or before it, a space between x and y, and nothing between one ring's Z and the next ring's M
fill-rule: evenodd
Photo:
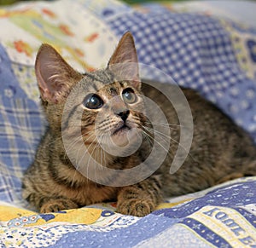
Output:
M41 213L58 212L63 210L70 210L78 208L70 199L49 199L44 205L41 206Z

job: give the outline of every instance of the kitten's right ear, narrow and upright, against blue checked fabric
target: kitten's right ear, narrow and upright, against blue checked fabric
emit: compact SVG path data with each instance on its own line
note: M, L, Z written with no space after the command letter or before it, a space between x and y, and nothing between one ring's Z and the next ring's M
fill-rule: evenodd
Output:
M125 32L111 56L108 67L120 79L130 80L134 87L140 87L137 51L131 32Z

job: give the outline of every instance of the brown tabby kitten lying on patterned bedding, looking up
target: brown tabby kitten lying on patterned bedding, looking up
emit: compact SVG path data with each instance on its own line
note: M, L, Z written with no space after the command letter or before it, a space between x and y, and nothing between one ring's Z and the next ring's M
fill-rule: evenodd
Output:
M178 148L180 124L177 112L161 92L177 86L154 83L159 87L155 89L140 82L130 32L119 41L106 69L81 74L55 49L43 44L35 70L49 126L23 178L23 198L40 212L117 200L120 213L145 216L166 196L256 175L256 148L249 136L191 89L183 89L183 94L194 120L192 146L181 168L169 173ZM125 77L129 80L120 79ZM156 136L152 131L154 123L146 117L143 94L165 112L171 145L159 169L141 182L129 185L125 182L136 178L115 173L130 171L145 162ZM140 135L143 138L137 150L128 153L137 146ZM144 172L147 171L142 169L141 173Z

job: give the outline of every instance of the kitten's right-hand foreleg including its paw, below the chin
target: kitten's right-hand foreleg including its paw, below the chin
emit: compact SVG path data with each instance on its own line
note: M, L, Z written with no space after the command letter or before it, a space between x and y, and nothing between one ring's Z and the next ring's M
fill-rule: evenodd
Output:
M149 177L135 185L122 187L118 194L117 211L124 215L146 216L160 203L160 180Z

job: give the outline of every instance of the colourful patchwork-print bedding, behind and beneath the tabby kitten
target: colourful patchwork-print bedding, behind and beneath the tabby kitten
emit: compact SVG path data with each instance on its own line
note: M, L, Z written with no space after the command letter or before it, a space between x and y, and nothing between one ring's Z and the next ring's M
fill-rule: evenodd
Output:
M256 141L256 26L250 11L223 4L62 0L0 9L1 247L256 247L255 176L166 199L143 218L116 213L115 203L38 214L20 195L45 126L33 69L41 43L91 71L130 30L140 63L158 68L143 78L170 75L198 90Z

